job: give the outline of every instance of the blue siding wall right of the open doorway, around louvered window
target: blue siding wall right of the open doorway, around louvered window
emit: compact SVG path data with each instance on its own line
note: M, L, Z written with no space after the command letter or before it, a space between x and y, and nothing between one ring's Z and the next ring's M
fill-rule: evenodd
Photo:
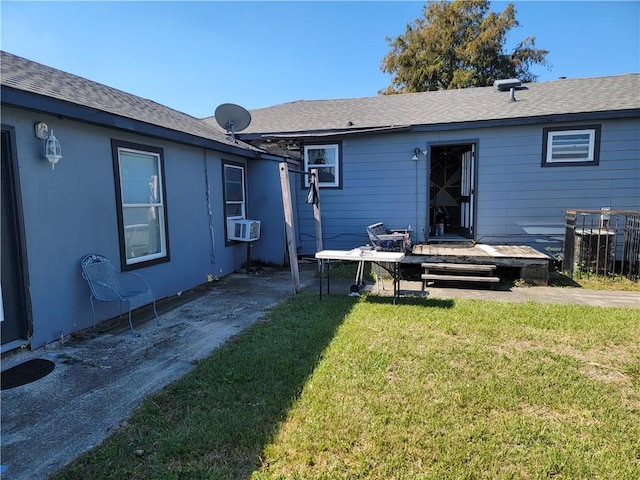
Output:
M567 209L640 210L637 120L602 122L597 166L542 167L543 126L477 132L477 241L558 248Z

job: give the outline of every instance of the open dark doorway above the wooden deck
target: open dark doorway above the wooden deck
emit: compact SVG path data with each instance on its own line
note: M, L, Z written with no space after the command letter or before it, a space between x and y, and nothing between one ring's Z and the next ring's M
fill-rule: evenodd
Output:
M430 238L473 238L475 145L431 147Z

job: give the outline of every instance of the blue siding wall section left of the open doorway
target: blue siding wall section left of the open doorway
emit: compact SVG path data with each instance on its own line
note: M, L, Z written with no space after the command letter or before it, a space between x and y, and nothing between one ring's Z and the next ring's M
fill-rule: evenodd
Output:
M418 143L416 143L418 142ZM347 138L342 141L342 189L320 191L324 248L351 249L369 242L367 225L426 231L426 159L411 160L424 141L406 135ZM420 179L416 182L416 179ZM315 252L313 209L307 190L297 184L300 252Z

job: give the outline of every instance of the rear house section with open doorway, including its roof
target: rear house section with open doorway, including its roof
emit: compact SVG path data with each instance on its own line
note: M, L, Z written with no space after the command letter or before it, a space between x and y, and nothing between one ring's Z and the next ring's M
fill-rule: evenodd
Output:
M242 140L319 169L324 246L366 226L561 248L569 209L640 210L640 74L296 101L251 111ZM212 119L205 119L212 124ZM297 200L306 198L298 179ZM300 253L315 251L299 209ZM439 227L440 227L439 225Z

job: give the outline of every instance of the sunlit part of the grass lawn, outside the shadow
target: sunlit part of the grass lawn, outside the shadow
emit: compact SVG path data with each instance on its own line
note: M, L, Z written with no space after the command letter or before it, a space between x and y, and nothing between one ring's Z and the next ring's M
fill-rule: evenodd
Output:
M637 315L433 307L358 304L255 477L637 477Z

